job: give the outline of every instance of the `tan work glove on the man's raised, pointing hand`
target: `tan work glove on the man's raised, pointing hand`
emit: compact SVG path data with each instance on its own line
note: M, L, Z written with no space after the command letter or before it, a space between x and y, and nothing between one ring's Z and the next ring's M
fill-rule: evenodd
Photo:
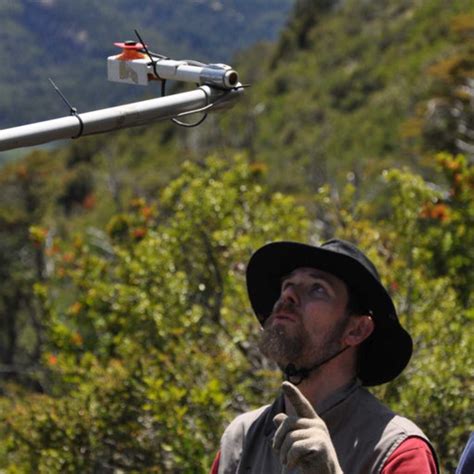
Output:
M296 386L283 382L282 389L296 412L296 416L279 413L273 418L278 428L273 448L283 473L298 467L302 474L343 474L324 421Z

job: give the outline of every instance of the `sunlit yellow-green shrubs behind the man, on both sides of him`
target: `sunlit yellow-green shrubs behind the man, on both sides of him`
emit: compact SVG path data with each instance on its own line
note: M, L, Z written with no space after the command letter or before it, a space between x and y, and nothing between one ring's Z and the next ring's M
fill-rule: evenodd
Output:
M466 161L439 160L462 174L456 195L467 198ZM185 163L156 202L135 199L114 216L102 241L56 244L53 273L36 285L47 394L5 387L7 472L204 472L233 414L271 398L278 375L256 349L245 263L268 240L307 240L309 220L293 198L266 190L263 171L242 158ZM311 238L358 242L381 270L415 353L375 391L429 434L450 470L474 428L472 275L451 273L474 244L459 234L472 200L462 212L445 201L441 212L433 206L445 192L409 170L386 171L373 192L376 200L361 199L353 182L320 188ZM468 240L446 247L446 233ZM44 238L39 227L31 235ZM434 264L440 253L444 267Z

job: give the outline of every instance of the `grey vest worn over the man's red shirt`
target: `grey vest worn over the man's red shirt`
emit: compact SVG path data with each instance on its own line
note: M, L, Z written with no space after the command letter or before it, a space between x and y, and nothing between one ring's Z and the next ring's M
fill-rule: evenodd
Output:
M339 390L316 408L328 427L345 474L380 473L388 457L408 437L422 438L430 445L414 423L393 413L359 382ZM271 443L275 434L273 417L281 412L282 395L272 405L232 421L221 439L219 474L280 473L282 466Z

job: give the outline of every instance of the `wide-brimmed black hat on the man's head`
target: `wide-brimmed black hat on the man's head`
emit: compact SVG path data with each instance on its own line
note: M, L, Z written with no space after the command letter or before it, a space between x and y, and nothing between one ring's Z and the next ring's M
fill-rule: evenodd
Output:
M252 308L263 325L280 297L281 281L293 270L317 268L331 273L350 288L367 308L374 331L361 345L358 377L366 386L397 377L410 360L413 343L401 326L392 298L373 263L353 244L333 239L320 247L298 242L273 242L261 247L247 266L247 289Z

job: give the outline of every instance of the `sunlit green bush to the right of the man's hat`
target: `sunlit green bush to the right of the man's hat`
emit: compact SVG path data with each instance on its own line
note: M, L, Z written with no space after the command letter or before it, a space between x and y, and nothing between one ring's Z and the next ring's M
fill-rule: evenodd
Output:
M465 163L447 154L440 160L448 168ZM415 351L403 375L375 392L422 427L452 472L474 429L474 239L466 232L474 210L472 185L460 181L459 194L471 197L461 212L455 201L440 208L442 190L407 169L386 171L377 187L382 209L359 200L349 183L340 193L322 188L315 212L324 222L320 226L358 242L381 270ZM463 266L468 261L469 268Z

